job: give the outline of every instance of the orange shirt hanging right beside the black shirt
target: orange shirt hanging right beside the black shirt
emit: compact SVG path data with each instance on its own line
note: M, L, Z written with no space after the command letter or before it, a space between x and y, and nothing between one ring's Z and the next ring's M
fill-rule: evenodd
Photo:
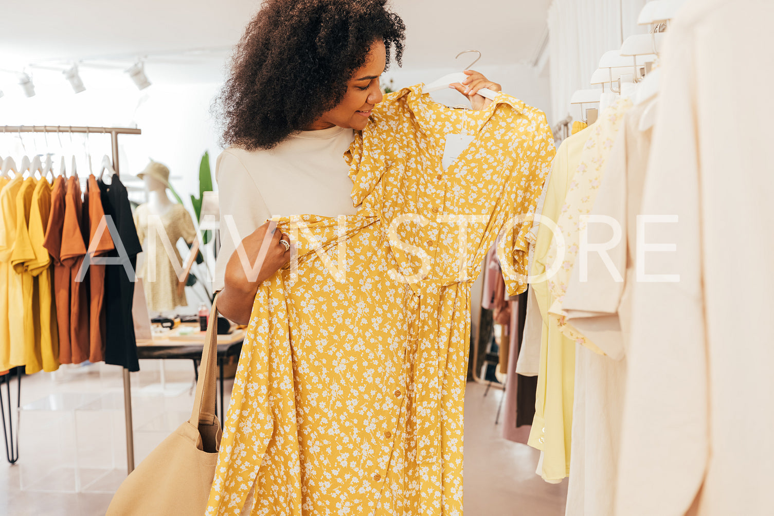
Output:
M97 243L94 243L94 236L99 227L99 223L104 217L102 209L102 200L100 196L97 178L94 174L89 174L86 184L86 193L84 194L84 217L88 217L89 227L89 247L96 246L92 251L92 256L104 256L114 248L113 239L110 231L105 227ZM84 221L85 222L85 221ZM104 316L104 265L89 265L89 318L90 318L90 362L104 361L105 346L105 316Z

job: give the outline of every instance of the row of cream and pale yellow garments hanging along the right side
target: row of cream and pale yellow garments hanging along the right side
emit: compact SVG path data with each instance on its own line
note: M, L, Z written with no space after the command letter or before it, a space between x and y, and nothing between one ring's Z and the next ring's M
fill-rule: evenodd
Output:
M731 80L774 60L771 19L685 2L657 73L557 149L516 371L539 357L529 444L568 516L771 511L774 111Z

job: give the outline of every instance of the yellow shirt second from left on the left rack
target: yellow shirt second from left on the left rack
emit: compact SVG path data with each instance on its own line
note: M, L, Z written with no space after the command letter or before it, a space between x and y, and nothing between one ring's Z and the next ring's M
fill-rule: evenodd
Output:
M16 232L11 252L11 274L18 276L21 289L9 296L9 323L11 329L11 363L25 365L35 355L35 343L39 341L39 328L35 326L38 307L33 300L33 275L27 271L26 262L35 259L33 244L29 241L29 210L37 179L28 177L16 193ZM41 364L33 361L26 367L28 374L40 371Z

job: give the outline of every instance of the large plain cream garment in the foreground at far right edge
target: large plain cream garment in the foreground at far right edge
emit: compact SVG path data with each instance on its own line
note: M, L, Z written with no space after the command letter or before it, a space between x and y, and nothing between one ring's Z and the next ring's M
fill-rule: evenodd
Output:
M647 244L676 247L639 263L680 281L632 292L616 514L772 514L774 103L738 87L774 63L772 19L774 2L687 0L666 32L641 213L669 217Z

